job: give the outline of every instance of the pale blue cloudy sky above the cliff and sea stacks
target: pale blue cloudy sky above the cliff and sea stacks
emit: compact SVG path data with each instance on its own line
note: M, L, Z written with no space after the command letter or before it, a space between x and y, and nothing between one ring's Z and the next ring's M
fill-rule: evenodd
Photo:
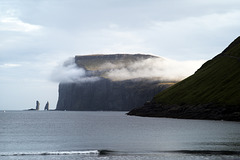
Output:
M239 36L238 0L0 0L0 110L55 109L69 57L144 53L208 60Z

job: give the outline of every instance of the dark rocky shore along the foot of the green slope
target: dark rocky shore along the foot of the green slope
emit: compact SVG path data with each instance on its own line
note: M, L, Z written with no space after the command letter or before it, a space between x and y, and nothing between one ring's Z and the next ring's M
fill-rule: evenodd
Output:
M166 105L146 102L127 115L179 119L240 121L240 106L221 104Z

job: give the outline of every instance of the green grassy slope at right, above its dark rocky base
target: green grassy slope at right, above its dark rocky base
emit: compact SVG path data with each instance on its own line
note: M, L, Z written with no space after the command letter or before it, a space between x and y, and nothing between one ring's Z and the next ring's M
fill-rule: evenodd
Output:
M240 60L236 57L240 57L239 37L194 75L159 93L153 101L179 105L240 105Z

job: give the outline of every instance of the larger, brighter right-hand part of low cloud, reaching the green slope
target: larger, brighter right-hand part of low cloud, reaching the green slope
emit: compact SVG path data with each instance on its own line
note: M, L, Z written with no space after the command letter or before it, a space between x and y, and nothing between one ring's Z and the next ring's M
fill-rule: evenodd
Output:
M112 66L113 69L104 75L113 80L146 78L161 81L180 81L192 75L204 62L203 60L175 61L151 58L137 61L128 66L107 64Z

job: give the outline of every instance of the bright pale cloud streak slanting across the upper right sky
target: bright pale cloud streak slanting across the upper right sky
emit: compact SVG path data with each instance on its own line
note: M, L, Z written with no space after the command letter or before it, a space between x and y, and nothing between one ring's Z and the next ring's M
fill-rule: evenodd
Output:
M202 33L202 31L216 31L218 29L239 26L239 17L240 11L213 13L202 16L185 17L173 21L153 21L152 28L163 31L181 30L184 32L179 32L179 34L188 33L189 35L192 33L194 34L194 32L189 32L194 30L196 31L195 33Z

